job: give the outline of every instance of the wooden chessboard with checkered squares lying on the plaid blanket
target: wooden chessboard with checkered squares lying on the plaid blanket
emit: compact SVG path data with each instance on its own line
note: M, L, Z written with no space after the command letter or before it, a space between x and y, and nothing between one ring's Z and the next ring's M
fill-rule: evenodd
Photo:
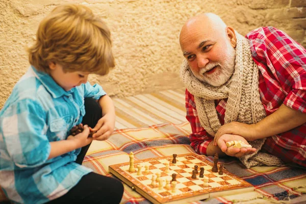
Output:
M206 161L205 157L190 153L177 155L176 163L172 163L172 156L137 160L133 163L130 161L110 165L109 171L152 203L187 203L254 190L251 184L224 168L223 174L213 172L213 164ZM133 172L130 172L130 164L133 164ZM195 165L198 168L203 167L204 171L201 177L197 172L196 178L192 179L195 176L192 175ZM218 171L220 165L217 162L215 165ZM156 174L162 182L152 182L156 179ZM168 183L173 179L173 174L176 174L175 186L170 186Z

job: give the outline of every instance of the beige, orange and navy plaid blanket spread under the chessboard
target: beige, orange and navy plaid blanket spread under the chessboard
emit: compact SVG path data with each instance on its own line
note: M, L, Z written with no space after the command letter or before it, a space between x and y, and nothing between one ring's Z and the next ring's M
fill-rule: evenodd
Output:
M94 141L83 165L96 173L113 176L108 172L112 164L129 162L130 151L134 159L157 158L172 154L194 152L188 138L190 124L159 124L139 129L116 130L107 141ZM206 157L213 162L213 157ZM268 203L306 200L306 170L298 167L253 167L246 169L237 159L219 159L219 163L233 174L255 187L254 192L209 198L193 203ZM305 188L304 188L305 187ZM140 194L124 185L121 203L150 203ZM306 194L305 194L306 195Z

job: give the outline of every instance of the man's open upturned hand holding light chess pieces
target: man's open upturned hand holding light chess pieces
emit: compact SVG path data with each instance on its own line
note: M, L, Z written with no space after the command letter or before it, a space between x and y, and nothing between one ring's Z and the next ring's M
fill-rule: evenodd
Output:
M245 144L248 144L248 142L239 135L231 135L231 134L224 134L222 135L218 141L217 144L220 147L220 149L228 156L231 157L242 157L245 155L251 155L256 151L256 148L238 148L238 147L227 147L226 142L233 141L233 140L241 140Z

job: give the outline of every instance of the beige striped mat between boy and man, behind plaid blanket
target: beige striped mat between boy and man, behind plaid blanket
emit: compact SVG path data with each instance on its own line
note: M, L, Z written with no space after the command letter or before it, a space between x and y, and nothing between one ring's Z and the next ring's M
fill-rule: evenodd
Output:
M183 88L113 100L116 108L116 129L187 121Z

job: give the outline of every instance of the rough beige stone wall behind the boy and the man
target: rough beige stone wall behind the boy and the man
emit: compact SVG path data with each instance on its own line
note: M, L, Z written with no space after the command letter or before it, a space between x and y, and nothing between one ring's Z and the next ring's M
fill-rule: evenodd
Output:
M111 96L182 87L178 35L197 13L214 12L243 35L272 25L306 46L305 0L0 0L0 108L28 69L24 46L35 39L39 21L65 2L87 5L112 31L116 68L89 79Z

